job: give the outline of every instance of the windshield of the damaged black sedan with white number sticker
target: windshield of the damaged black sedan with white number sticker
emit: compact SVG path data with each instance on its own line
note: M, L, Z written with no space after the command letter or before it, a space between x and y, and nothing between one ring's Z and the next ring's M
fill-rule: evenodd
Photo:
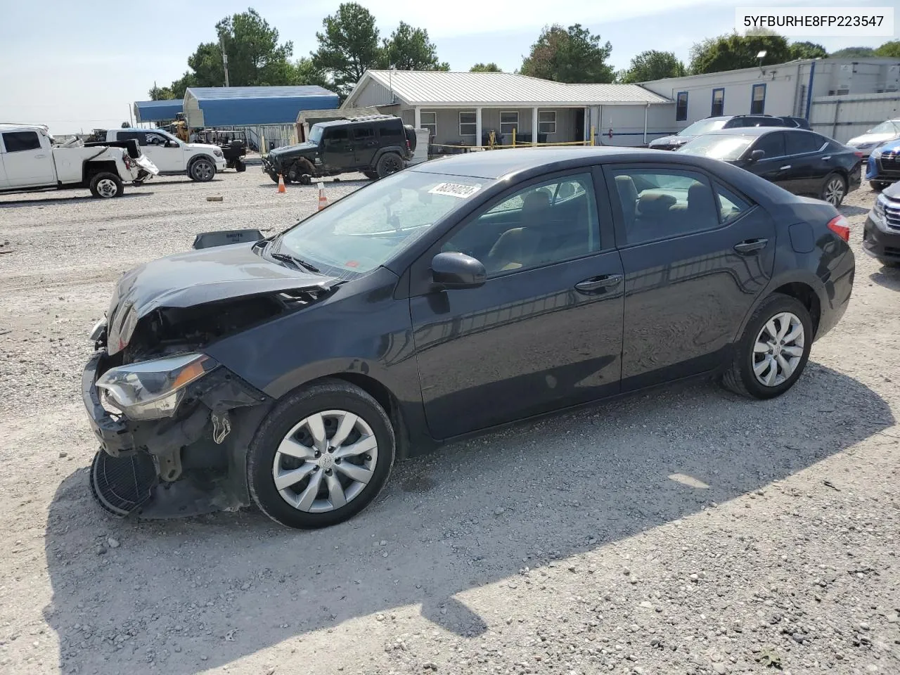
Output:
M401 171L302 220L284 234L278 251L330 267L328 274L345 278L364 274L384 265L492 183Z

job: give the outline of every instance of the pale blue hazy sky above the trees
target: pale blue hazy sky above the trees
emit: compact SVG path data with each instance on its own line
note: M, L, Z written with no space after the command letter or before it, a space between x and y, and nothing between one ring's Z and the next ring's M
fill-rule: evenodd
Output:
M504 70L522 57L545 24L581 23L612 43L612 65L628 66L645 49L673 51L688 61L691 45L734 30L734 10L783 6L757 0L455 0L404 3L360 0L383 36L402 20L428 30L437 55L454 70L494 61ZM791 6L892 6L900 28L900 0L790 0ZM187 69L201 42L216 39L215 23L254 7L292 40L294 57L316 49L316 31L338 0L180 0L138 4L109 0L0 0L0 121L48 124L56 134L118 127L130 104L148 98L156 82L168 85ZM15 30L10 30L11 28ZM801 38L833 51L877 47L888 38ZM224 83L223 83L224 84Z

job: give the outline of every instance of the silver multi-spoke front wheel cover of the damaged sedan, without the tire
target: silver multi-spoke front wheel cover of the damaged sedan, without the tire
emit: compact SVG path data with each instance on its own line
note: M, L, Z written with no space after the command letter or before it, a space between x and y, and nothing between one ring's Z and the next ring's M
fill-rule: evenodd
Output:
M324 410L287 433L275 452L272 479L294 509L324 513L356 499L377 462L378 444L364 419Z

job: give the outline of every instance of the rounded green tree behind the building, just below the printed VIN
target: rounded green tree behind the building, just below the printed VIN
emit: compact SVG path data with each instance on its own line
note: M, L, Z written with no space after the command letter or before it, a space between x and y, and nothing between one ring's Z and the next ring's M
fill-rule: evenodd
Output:
M733 32L707 38L691 47L690 71L697 75L757 66L760 59L756 55L761 51L766 52L762 58L763 66L784 63L791 58L788 40L781 35Z

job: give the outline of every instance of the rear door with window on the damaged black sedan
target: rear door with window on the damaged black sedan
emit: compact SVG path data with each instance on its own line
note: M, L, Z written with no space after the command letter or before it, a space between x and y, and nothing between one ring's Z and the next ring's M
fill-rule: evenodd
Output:
M623 392L720 365L775 261L768 212L676 166L604 167L625 271Z

